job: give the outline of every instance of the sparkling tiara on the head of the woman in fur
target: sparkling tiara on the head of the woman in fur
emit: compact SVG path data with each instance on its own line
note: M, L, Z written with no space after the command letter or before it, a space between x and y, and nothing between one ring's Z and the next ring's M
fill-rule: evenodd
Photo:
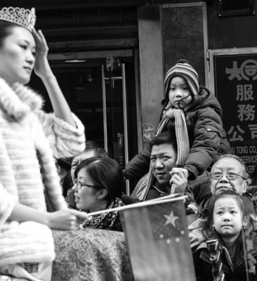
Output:
M36 22L35 9L4 7L0 10L0 20L16 23L32 32Z

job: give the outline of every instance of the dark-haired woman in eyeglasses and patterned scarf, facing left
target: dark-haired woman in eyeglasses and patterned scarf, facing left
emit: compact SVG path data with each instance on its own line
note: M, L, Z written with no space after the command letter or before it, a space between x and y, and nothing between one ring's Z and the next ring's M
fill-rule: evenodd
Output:
M77 209L91 213L120 207L124 184L119 164L112 158L92 157L83 160L74 172L74 191ZM88 216L82 228L100 228L121 231L117 211Z

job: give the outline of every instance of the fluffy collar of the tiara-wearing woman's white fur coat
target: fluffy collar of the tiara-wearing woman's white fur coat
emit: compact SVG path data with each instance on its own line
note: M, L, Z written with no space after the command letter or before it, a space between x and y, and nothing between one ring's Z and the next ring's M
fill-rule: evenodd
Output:
M40 110L43 106L41 96L19 83L9 86L0 78L0 108L16 121L21 121L30 112Z

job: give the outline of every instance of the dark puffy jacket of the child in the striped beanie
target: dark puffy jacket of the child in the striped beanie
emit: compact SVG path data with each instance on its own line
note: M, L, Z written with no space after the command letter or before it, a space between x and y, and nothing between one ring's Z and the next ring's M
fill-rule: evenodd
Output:
M222 122L222 109L216 97L204 86L199 96L185 112L187 132L190 140L190 155L183 166L194 180L216 161L218 155L230 153L230 143ZM164 131L175 132L175 121L169 119ZM124 176L136 180L147 173L150 164L150 147L136 155L126 164Z

